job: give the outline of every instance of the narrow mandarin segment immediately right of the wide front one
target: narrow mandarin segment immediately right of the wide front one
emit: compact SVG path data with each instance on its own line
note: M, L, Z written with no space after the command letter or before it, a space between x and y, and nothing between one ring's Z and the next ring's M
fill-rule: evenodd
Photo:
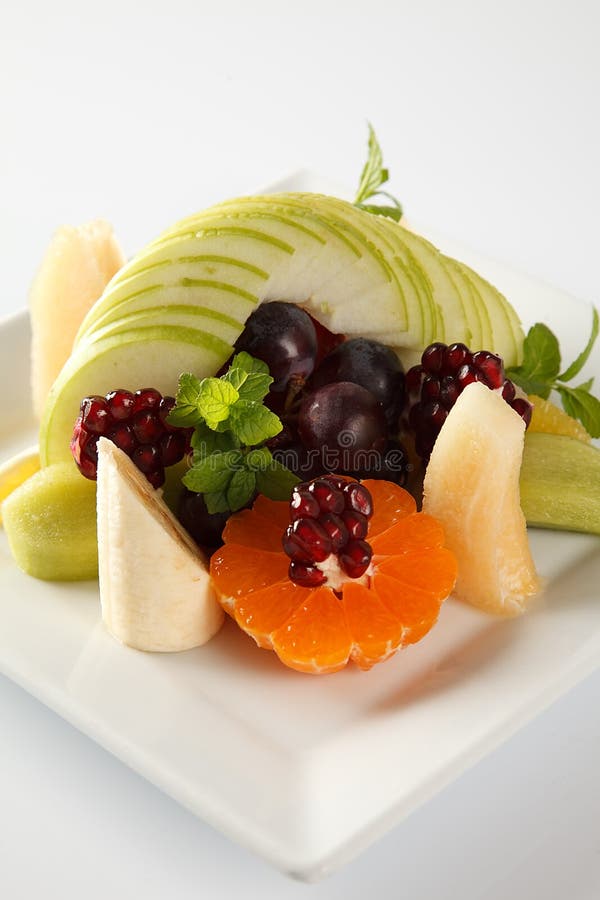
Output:
M361 669L370 669L396 652L402 624L377 594L357 581L343 588L343 606L353 646L351 657Z

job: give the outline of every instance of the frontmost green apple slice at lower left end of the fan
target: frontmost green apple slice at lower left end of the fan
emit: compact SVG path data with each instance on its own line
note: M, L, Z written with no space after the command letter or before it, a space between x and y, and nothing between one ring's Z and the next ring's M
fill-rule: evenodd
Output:
M154 387L174 394L181 372L213 375L232 347L213 335L178 325L139 326L82 345L54 383L40 429L43 466L70 456L69 440L83 397L118 387Z

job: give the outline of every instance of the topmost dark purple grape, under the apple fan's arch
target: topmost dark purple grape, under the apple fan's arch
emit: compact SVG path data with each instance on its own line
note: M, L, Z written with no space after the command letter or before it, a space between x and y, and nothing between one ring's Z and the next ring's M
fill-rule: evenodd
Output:
M299 306L274 300L261 303L236 341L269 367L271 390L285 391L290 379L306 380L317 357L317 333L311 317Z

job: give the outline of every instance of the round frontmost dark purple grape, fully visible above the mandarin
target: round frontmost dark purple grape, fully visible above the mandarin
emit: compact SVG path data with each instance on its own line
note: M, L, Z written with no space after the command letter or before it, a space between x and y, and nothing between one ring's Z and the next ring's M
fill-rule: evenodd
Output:
M320 452L325 470L353 472L383 450L387 423L383 407L370 391L340 381L305 397L298 434L308 450Z

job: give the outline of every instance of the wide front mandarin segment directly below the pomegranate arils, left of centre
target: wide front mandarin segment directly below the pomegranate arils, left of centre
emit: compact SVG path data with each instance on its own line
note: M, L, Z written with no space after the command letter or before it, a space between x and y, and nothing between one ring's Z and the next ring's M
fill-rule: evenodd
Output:
M342 669L352 649L342 604L327 587L310 591L272 639L273 649L286 666L313 675Z

